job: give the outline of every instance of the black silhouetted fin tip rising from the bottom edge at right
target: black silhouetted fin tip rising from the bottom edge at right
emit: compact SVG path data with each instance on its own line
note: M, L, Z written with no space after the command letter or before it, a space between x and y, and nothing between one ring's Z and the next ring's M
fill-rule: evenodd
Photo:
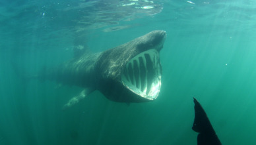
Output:
M197 136L197 145L221 145L210 120L203 110L201 104L194 98L195 103L195 120L193 123L193 131L199 133Z

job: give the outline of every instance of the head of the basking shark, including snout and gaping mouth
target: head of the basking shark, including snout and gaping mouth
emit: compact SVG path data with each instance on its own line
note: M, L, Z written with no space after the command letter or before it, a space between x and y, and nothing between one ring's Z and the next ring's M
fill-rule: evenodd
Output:
M117 102L145 102L158 97L165 31L151 31L102 52L96 62L100 91Z

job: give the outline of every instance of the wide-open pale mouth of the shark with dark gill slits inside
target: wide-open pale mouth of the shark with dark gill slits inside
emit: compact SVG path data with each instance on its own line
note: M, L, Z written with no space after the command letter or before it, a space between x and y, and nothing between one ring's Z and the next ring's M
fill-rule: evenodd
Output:
M154 100L160 92L161 74L159 52L150 49L138 54L126 64L121 80L133 93Z

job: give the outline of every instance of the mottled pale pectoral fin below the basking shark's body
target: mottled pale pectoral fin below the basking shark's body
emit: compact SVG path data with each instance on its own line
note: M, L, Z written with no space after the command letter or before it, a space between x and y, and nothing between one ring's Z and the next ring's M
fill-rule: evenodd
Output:
M73 98L71 98L69 100L69 102L67 102L67 104L65 104L63 106L63 110L77 104L78 102L80 102L80 100L82 100L83 98L85 98L86 96L88 96L88 94L92 93L94 91L94 89L92 88L86 88L86 89L83 89L82 92L77 95L77 96L74 96Z

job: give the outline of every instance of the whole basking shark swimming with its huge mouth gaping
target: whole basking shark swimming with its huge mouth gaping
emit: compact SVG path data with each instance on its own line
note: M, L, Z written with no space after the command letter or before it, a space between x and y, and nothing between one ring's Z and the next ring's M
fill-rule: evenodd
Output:
M76 51L73 59L44 70L40 77L84 88L64 108L96 90L115 102L152 101L160 92L159 53L165 38L165 31L156 30L104 52L81 54Z

